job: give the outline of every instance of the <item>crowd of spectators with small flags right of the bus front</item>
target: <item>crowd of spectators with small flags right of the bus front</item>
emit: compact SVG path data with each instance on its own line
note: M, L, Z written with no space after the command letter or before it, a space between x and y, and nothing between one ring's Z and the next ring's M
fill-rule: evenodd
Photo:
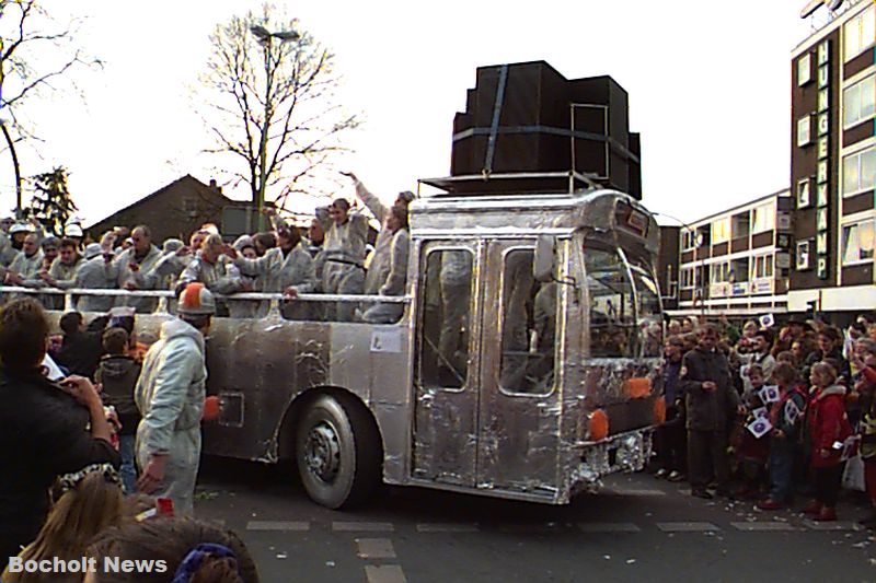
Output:
M862 490L874 512L861 522L876 527L874 317L764 324L669 323L655 475L762 511L808 495L817 521L837 520L843 487Z

